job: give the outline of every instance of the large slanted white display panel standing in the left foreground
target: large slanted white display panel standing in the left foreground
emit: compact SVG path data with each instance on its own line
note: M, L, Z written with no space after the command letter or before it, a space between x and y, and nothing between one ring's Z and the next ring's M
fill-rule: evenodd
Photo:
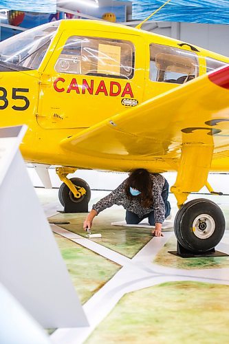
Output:
M18 149L25 129L0 129L0 282L43 327L87 326Z

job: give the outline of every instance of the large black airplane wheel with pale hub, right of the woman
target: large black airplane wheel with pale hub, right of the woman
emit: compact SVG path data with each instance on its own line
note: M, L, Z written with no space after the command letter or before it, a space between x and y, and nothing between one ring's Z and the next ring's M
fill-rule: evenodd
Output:
M221 208L210 200L192 200L179 209L174 222L181 246L193 253L215 248L223 237L225 219Z

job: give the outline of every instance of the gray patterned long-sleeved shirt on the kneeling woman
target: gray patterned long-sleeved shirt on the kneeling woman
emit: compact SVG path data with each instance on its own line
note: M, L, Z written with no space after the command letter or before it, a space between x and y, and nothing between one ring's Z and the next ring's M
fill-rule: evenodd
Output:
M164 177L160 174L151 174L153 181L152 193L153 193L153 204L150 208L145 208L141 205L139 197L131 197L129 199L125 192L125 184L127 179L118 186L117 189L109 193L109 195L103 197L100 201L92 206L97 213L104 211L106 208L117 204L118 206L123 206L127 211L131 211L138 215L138 217L143 217L146 214L154 211L155 222L162 224L165 219L165 205L162 199L162 189L164 186Z

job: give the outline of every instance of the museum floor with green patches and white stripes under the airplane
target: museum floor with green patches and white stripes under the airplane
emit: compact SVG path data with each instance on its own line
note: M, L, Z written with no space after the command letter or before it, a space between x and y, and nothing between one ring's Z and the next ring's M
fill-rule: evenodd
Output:
M173 228L153 238L150 228L111 226L124 210L109 208L94 220L87 239L85 214L59 213L58 190L36 189L89 327L57 329L52 343L228 343L229 257L183 259L175 250ZM91 204L107 192L92 191ZM197 198L190 195L190 200ZM217 250L229 254L229 196L207 196L221 206L227 223ZM169 197L173 218L175 198Z

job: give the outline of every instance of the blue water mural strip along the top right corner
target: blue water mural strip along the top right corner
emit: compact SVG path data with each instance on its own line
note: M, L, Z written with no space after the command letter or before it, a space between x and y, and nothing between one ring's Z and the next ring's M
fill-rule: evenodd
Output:
M166 0L133 0L133 19L143 20ZM171 0L152 21L229 24L229 0Z

